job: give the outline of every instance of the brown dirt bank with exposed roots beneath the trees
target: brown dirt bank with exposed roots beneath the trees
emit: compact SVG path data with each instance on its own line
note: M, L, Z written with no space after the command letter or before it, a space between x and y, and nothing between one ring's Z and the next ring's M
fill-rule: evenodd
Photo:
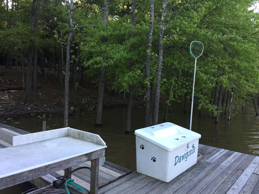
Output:
M0 66L0 117L1 119L16 118L23 115L31 114L63 114L64 108L64 76L63 86L58 84L57 71L45 70L45 76L38 69L37 91L32 91L31 96L33 103L28 106L24 104L25 89L27 80L27 69L24 72L21 67L13 69ZM24 77L24 78L23 78ZM24 83L23 83L24 80ZM85 78L85 80L88 80ZM80 78L77 77L77 82ZM105 95L104 107L127 106L127 96L123 95L114 97ZM96 84L90 84L84 81L83 85L77 88L77 91L69 86L69 107L75 111L87 113L93 111L98 96ZM136 106L143 106L143 100L135 100Z

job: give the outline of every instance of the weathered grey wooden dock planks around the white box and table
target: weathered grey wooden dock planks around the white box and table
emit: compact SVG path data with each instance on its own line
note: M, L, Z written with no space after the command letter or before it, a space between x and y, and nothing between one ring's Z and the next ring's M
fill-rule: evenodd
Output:
M0 147L11 145L9 136L22 133L28 132L0 123ZM259 156L202 144L199 144L198 154L201 154L201 157L194 166L168 183L137 172L130 173L131 171L128 169L106 162L104 166L100 167L98 193L259 193ZM79 166L89 166L89 163L86 162ZM112 170L113 175L106 173L106 170ZM49 176L61 175L63 175L63 171ZM85 178L87 176L85 172L78 172L72 178L75 178L75 182L80 183L81 187L87 189L89 184L87 183L88 178ZM81 183L81 180L84 182Z

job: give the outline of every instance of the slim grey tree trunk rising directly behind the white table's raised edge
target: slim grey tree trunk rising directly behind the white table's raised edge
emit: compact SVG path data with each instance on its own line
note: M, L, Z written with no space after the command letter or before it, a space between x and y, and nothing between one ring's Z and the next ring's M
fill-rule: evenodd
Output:
M69 35L67 39L67 56L66 56L66 75L65 75L65 96L64 96L64 127L68 127L68 95L69 95L69 68L70 68L70 43L73 38L72 11L74 1L70 0L70 10L68 13Z

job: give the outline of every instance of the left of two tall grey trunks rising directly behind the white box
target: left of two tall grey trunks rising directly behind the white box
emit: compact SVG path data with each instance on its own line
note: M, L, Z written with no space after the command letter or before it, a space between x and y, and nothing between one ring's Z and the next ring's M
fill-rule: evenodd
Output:
M152 36L153 36L153 25L154 25L154 0L150 0L150 22L148 32L148 43L147 43L147 59L146 59L146 108L145 108L145 126L150 126L150 59L152 49ZM152 102L153 103L153 102ZM152 121L151 121L152 122Z

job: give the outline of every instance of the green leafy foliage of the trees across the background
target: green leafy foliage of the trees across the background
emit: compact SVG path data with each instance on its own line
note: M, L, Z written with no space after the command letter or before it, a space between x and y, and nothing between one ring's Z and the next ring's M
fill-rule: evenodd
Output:
M75 1L74 7L86 1ZM152 37L150 81L156 83L161 2L154 2L154 31ZM39 57L53 57L57 51L66 53L69 32L69 3L54 0L42 1L38 12L38 25L31 27L32 1L15 1L13 8L0 3L0 54L16 55L19 60L28 58L33 42ZM130 0L112 1L109 4L107 28L103 25L103 1L88 1L73 11L73 39L70 63L78 60L84 73L95 77L104 68L111 89L128 91L128 86L145 88L147 36L149 33L149 1L136 2L136 24L132 26ZM235 88L233 103L241 103L244 95L258 93L259 45L258 13L249 11L252 0L172 1L168 0L163 44L161 97L167 103L183 102L191 98L194 59L189 54L193 40L204 44L202 56L197 59L195 96L198 109L216 113L211 105L215 84L224 90ZM88 25L88 26L84 26ZM81 27L79 27L81 26ZM84 27L83 27L84 26ZM77 59L76 46L81 42ZM98 80L97 80L98 81ZM104 104L108 103L104 97ZM93 111L95 102L83 99L87 112ZM41 117L42 118L42 117Z

